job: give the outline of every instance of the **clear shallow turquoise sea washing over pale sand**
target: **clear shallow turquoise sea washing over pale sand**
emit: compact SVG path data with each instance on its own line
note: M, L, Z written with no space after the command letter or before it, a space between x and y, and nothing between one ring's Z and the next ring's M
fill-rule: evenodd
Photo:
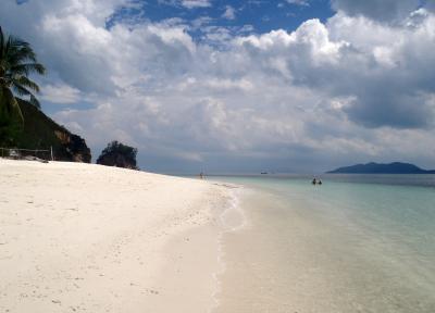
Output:
M221 238L213 312L434 313L435 175L312 178L208 177L239 186L243 221Z

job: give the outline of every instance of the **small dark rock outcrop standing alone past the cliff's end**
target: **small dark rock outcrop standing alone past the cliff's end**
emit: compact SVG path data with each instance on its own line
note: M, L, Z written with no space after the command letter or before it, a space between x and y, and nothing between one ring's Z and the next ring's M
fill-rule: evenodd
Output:
M136 148L112 141L102 150L101 155L97 159L97 164L139 170L136 166Z

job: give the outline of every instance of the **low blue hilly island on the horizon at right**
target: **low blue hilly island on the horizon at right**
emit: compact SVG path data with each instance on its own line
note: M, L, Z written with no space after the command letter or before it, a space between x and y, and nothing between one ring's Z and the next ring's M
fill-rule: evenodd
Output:
M326 172L328 174L435 174L435 170L426 171L410 163L394 162L389 164L366 163L339 167Z

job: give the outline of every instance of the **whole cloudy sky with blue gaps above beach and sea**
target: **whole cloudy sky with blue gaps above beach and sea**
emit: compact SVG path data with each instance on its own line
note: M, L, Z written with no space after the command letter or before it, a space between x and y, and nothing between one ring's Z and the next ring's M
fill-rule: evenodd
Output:
M435 168L435 0L1 0L42 111L160 173Z

